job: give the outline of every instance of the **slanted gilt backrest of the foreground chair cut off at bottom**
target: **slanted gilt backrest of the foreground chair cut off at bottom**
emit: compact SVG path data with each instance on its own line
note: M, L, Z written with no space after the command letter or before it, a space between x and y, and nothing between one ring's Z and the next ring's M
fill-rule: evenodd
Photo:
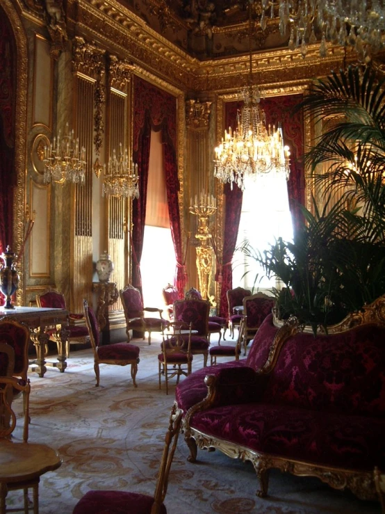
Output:
M177 408L174 403L170 413L170 421L165 435L165 447L163 449L163 456L161 460L161 468L159 469L158 480L156 481L156 488L154 494L154 504L151 508L151 514L158 514L161 505L165 499L168 486L168 477L170 475L170 468L172 459L174 458L175 449L179 432L181 430L182 411Z

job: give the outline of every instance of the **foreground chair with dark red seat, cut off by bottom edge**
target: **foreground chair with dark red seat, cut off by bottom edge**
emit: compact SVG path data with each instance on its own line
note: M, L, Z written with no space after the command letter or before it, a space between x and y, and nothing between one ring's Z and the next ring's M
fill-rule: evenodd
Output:
M168 477L181 428L182 411L174 404L165 435L165 446L159 469L154 497L138 492L88 491L76 504L72 514L167 514L163 504L167 493Z

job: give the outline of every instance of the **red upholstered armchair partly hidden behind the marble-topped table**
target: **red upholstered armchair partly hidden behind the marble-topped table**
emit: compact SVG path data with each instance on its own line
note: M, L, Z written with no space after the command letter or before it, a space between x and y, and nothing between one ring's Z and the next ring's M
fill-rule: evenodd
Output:
M65 296L54 289L48 289L43 294L36 295L36 303L38 307L50 307L51 309L67 309L65 305ZM65 354L69 357L69 346L71 344L86 344L90 342L88 335L88 328L84 325L75 324L76 322L84 321L84 314L75 314L70 312L68 314L67 341L65 343ZM56 342L57 345L61 341L56 339L56 330L49 332L49 339Z

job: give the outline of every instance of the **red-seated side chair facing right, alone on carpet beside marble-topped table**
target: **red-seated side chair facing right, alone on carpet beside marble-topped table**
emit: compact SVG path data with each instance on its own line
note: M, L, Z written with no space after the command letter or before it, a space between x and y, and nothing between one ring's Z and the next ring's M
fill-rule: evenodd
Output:
M83 300L85 323L90 332L90 340L94 351L94 369L96 376L96 387L99 386L99 364L115 364L117 366L131 365L131 378L134 387L136 385L136 374L138 372L139 350L135 344L128 342L106 344L100 346L100 330L97 317L92 307L88 306L87 300Z

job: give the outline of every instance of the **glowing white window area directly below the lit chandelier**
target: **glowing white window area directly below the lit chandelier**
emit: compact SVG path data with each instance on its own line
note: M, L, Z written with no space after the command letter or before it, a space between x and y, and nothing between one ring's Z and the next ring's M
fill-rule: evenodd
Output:
M275 279L269 280L264 276L263 268L254 259L245 257L238 250L247 240L254 249L263 252L278 237L293 239L285 175L269 172L262 176L246 177L237 250L233 257L233 287L254 289L254 293L279 287Z

